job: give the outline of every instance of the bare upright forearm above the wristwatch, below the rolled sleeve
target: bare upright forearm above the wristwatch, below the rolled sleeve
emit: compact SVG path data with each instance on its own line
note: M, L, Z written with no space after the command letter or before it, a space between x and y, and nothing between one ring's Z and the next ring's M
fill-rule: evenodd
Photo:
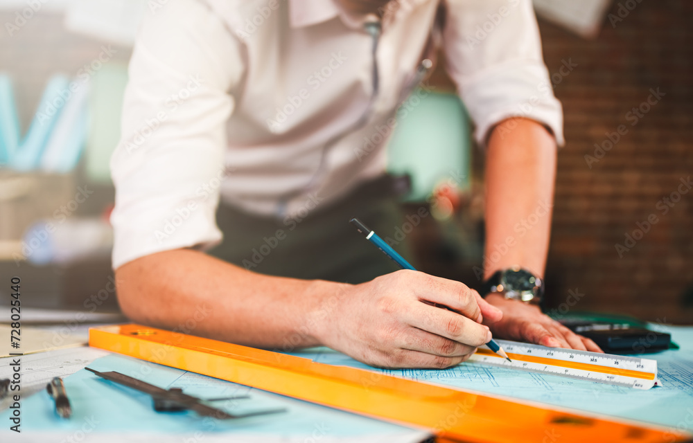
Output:
M486 154L484 278L520 265L543 276L556 175L556 141L539 123L505 120Z

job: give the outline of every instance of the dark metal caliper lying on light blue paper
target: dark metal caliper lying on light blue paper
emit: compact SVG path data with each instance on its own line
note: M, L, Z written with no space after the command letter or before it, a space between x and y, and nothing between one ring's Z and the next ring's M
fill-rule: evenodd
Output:
M281 413L286 411L286 409L266 409L258 410L245 414L229 414L221 409L214 408L205 404L207 401L220 401L220 400L231 400L231 399L247 399L250 398L248 395L237 395L234 397L222 397L214 399L198 399L198 397L193 397L192 395L187 395L183 393L181 388L170 388L164 389L159 388L159 386L154 386L146 381L141 381L135 379L134 377L129 377L128 375L121 374L116 371L109 372L98 372L91 368L85 368L90 372L98 375L103 379L113 381L114 383L119 383L123 386L128 386L140 392L144 392L152 397L154 402L154 409L158 412L180 412L184 410L194 410L198 415L204 417L213 417L216 419L238 419L245 417L254 417L256 415L267 415L274 413Z

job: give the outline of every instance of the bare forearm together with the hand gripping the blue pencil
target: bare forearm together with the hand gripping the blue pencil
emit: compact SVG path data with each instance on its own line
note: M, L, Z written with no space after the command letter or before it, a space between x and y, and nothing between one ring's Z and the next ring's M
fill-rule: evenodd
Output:
M123 312L138 323L252 347L326 345L388 368L456 365L489 341L477 320L500 319L464 284L421 272L362 284L296 280L187 249L124 264L116 285Z

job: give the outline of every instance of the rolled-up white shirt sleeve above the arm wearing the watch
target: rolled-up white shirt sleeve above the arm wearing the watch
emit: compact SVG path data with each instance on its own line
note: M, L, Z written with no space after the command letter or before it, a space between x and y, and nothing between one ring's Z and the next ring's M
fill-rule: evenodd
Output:
M525 117L563 145L563 113L541 55L530 0L447 0L446 69L484 145L502 120Z

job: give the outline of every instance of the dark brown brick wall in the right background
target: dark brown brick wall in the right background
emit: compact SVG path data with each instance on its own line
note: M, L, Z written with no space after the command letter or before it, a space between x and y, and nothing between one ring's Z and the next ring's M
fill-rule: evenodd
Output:
M577 64L555 75L567 143L547 266L554 305L579 288L575 309L693 323L692 300L683 308L693 286L693 190L678 190L693 178L692 23L685 0L643 0L615 26L607 19L593 41L541 22L549 71ZM665 95L656 102L651 90ZM595 153L595 143L613 147ZM636 240L648 218L656 224Z

